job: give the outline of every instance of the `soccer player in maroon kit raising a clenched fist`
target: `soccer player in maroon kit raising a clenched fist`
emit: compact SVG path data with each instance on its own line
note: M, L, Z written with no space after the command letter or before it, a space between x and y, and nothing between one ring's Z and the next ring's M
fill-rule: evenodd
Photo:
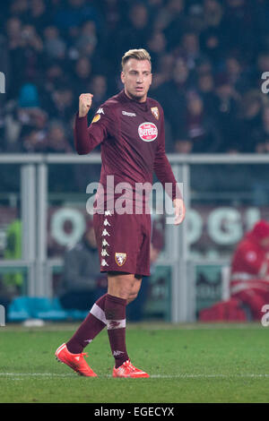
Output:
M108 293L92 306L90 314L74 336L56 350L56 358L86 376L96 376L84 360L83 349L106 326L114 377L149 377L132 365L126 349L126 305L137 296L143 276L150 275L151 216L145 211L146 195L134 195L137 185L152 185L155 172L161 184L172 186L170 197L175 208L175 225L185 218L185 205L165 154L164 116L159 102L148 98L152 83L149 53L141 49L126 52L122 58L121 81L124 90L100 106L88 127L91 93L79 99L75 118L74 143L79 154L101 147L100 187L96 194L93 223L100 253L100 271L108 273ZM175 110L176 112L176 110ZM118 194L108 187L125 182L130 210L117 211ZM113 189L112 189L113 190ZM104 210L99 211L100 193ZM114 194L114 195L113 195ZM134 200L135 197L135 200ZM134 203L135 202L135 203ZM100 203L99 203L100 204ZM135 208L135 209L134 209Z

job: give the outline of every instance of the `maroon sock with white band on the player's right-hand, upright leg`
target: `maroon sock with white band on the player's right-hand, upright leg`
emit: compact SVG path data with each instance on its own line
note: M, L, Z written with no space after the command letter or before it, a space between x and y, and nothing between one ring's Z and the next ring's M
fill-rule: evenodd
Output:
M126 351L126 299L107 295L105 315L116 368L129 359Z

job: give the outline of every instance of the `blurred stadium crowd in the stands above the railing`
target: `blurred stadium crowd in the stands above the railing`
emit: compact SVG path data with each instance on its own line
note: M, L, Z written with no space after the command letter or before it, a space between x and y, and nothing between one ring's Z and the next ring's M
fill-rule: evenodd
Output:
M266 0L11 0L0 10L2 152L73 152L82 92L94 110L122 89L120 61L145 47L167 151L267 152Z

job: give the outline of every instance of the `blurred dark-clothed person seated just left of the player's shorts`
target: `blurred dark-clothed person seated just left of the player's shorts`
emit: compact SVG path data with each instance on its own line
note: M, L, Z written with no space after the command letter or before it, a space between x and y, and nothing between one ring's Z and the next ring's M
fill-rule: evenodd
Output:
M64 308L88 310L92 300L106 292L107 276L100 273L94 228L89 219L82 240L65 253L58 295Z

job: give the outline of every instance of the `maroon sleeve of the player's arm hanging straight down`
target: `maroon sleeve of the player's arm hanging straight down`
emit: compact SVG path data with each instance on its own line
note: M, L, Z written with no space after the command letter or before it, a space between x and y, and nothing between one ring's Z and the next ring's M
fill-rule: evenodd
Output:
M165 153L165 128L164 128L164 116L161 109L160 113L161 118L161 133L158 139L158 147L155 153L153 169L161 181L163 188L166 193L169 194L172 200L182 199L182 194L178 188L177 180L173 174L172 168L169 163L169 159Z

